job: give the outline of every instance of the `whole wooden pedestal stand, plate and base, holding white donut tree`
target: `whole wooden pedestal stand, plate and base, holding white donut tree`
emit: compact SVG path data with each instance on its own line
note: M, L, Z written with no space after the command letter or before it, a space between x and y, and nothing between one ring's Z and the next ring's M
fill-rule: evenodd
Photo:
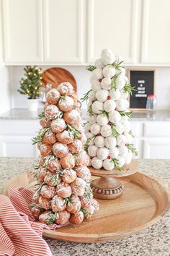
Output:
M119 171L117 168L112 171L106 171L104 168L94 169L90 167L91 175L100 177L91 182L94 197L98 199L116 199L120 197L123 192L123 185L120 180L115 178L135 174L138 171L138 163L133 160L128 166L123 166L123 168L124 171Z

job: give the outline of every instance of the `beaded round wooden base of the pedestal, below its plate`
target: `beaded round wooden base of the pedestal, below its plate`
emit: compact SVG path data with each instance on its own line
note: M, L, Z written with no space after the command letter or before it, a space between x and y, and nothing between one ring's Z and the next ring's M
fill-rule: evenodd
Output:
M117 179L102 176L91 182L91 189L95 198L116 199L122 195L123 185Z

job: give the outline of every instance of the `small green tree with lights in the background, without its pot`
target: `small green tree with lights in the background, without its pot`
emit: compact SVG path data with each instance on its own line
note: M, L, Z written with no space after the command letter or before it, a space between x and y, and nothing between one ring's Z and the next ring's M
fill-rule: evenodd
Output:
M27 95L28 98L38 98L42 83L42 69L37 66L24 67L24 78L20 81L19 93Z

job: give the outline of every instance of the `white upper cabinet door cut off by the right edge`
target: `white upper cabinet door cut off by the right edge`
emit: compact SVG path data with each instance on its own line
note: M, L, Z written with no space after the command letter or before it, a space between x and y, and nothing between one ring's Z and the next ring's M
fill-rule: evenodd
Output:
M169 9L169 0L143 0L143 64L170 64Z

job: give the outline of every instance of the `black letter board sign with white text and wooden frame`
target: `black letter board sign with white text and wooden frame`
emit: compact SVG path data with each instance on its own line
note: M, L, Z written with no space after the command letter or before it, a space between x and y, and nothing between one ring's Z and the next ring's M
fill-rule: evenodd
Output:
M130 108L146 109L148 95L154 94L154 70L129 70L130 84L135 87L130 95Z

